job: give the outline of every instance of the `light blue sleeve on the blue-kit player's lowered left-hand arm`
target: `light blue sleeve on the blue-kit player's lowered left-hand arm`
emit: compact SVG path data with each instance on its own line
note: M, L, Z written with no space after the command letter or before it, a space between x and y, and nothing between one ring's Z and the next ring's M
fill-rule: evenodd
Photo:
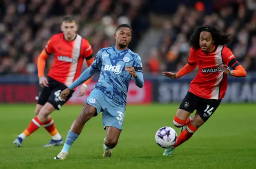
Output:
M95 74L96 71L97 71L97 69L94 69L94 68L92 68L92 66L90 66L68 88L70 90L76 88L78 85L80 85L80 84L84 83L86 80L90 79Z

